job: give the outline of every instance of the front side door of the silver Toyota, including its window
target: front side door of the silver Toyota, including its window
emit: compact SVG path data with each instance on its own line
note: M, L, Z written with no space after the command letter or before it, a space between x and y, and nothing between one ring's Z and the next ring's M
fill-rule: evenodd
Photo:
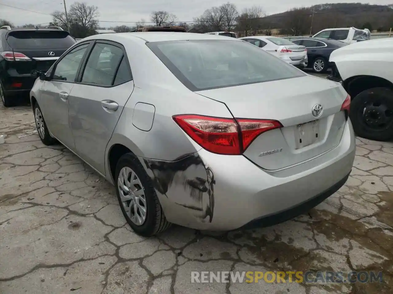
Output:
M75 144L68 121L68 99L87 47L88 44L78 46L64 55L53 68L51 80L41 88L43 115L50 132L72 150Z

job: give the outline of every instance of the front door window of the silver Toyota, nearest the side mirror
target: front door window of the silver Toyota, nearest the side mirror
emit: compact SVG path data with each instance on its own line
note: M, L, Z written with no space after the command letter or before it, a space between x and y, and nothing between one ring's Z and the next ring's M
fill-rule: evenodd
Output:
M53 80L74 82L88 45L76 47L64 56L56 65Z

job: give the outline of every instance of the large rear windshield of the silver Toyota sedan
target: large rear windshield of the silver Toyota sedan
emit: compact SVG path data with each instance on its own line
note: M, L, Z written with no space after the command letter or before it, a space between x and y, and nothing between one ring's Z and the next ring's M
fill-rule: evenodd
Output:
M294 66L236 40L189 40L146 44L191 91L304 76Z

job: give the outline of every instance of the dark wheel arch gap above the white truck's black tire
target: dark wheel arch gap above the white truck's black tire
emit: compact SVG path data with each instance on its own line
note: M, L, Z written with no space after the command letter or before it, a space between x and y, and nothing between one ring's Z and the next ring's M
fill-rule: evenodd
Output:
M357 94L367 89L376 87L393 89L393 83L379 76L358 75L347 78L343 82L343 87L353 99Z

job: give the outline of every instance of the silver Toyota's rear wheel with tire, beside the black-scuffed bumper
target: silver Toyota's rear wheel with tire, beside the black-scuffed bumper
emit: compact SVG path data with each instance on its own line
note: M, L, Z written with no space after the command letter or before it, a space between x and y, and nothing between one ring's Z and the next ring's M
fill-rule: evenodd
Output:
M151 179L132 153L121 156L115 172L121 212L137 234L150 237L166 230L166 220Z

